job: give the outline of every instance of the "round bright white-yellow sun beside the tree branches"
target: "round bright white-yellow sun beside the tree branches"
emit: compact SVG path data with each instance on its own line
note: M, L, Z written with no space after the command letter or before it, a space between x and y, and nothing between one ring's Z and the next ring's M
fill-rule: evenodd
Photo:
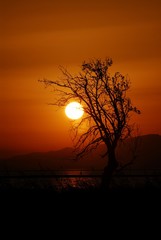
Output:
M65 108L65 114L68 118L76 120L83 116L84 110L80 103L71 102Z

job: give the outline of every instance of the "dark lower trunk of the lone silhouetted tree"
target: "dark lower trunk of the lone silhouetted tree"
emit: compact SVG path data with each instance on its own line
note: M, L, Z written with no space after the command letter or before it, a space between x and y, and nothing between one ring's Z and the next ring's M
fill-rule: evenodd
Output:
M118 163L116 161L115 149L111 149L110 151L108 151L108 164L107 166L105 166L102 175L101 189L103 191L109 190L112 175L115 172L117 166Z

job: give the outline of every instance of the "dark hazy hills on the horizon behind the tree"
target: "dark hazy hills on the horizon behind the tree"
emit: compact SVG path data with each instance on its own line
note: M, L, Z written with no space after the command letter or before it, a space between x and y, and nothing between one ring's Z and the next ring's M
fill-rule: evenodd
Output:
M128 162L133 157L133 147L136 139L126 141L120 145L117 156L121 162ZM129 169L161 170L161 136L150 134L137 139L136 159ZM24 170L57 170L57 169L103 169L106 158L101 155L105 146L100 145L97 150L83 159L74 160L72 148L59 151L35 152L17 155L11 158L0 159L0 171Z

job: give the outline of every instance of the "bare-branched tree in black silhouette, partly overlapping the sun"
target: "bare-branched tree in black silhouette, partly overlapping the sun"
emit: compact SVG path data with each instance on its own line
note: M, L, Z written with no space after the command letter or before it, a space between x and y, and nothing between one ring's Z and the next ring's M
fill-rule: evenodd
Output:
M102 176L103 189L109 187L111 177L120 165L116 159L118 141L129 137L133 130L129 123L131 113L140 113L127 96L130 88L128 77L119 72L111 76L108 71L111 65L112 59L94 59L83 62L76 76L60 67L63 79L40 80L46 86L54 87L54 105L65 106L70 101L78 101L83 106L83 117L73 121L72 126L78 157L101 143L106 145L104 157L107 156L107 165ZM86 130L81 132L82 126Z

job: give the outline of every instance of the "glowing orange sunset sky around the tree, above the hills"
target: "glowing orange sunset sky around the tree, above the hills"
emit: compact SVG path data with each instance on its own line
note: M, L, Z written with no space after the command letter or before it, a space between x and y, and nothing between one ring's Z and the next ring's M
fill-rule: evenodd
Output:
M160 0L1 0L0 18L0 150L71 146L70 121L37 80L93 57L129 75L141 134L161 134Z

